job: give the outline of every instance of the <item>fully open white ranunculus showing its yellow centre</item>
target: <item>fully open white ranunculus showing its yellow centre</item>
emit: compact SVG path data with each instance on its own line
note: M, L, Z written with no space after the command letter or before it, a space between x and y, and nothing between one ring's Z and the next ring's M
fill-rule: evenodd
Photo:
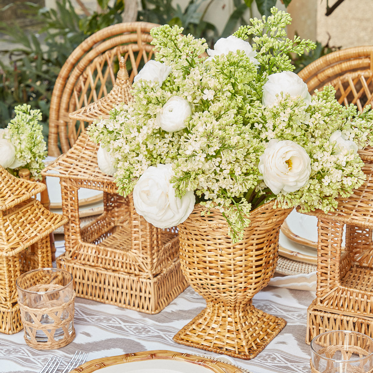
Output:
M295 192L311 175L311 159L294 141L272 139L259 157L258 168L274 194Z

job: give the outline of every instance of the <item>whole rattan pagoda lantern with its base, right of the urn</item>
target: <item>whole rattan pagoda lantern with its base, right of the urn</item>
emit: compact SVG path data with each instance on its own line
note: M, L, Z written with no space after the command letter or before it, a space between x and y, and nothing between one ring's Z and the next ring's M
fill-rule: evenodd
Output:
M316 299L307 310L306 342L329 330L373 337L373 157L360 152L366 182L318 219ZM343 234L345 232L345 245Z

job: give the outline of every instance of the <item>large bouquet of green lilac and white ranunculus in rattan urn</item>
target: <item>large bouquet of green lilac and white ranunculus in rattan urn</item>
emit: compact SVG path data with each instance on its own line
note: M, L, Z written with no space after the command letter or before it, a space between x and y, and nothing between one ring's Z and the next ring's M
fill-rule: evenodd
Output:
M133 100L88 129L106 154L101 169L157 227L178 225L199 203L203 214L219 209L238 241L267 201L326 212L364 182L357 150L373 145L370 108L342 106L332 87L311 97L288 56L315 44L286 38L288 13L250 22L214 49L178 26L153 28L157 53L135 77Z

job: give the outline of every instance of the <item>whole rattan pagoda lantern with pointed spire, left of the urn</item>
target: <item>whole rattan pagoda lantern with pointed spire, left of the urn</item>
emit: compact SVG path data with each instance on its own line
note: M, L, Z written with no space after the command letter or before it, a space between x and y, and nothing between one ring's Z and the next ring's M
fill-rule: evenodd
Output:
M69 118L89 123L107 118L113 107L132 100L130 90L122 57L110 93ZM117 194L114 178L98 167L97 150L82 132L72 148L42 172L60 178L62 213L69 219L66 251L56 259L57 266L73 273L78 297L158 313L188 286L180 268L176 229L156 228L138 215L132 196ZM79 188L103 191L103 213L84 228Z

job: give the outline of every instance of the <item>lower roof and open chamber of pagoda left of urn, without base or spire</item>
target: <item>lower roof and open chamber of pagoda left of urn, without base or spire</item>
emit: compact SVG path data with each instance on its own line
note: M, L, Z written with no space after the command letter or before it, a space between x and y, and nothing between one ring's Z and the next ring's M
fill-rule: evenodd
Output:
M175 229L156 228L138 215L132 197L116 194L112 176L97 166L98 145L86 133L64 155L43 171L59 176L65 226L65 250L70 260L108 270L152 278L178 256ZM104 213L80 228L78 189L104 191Z

